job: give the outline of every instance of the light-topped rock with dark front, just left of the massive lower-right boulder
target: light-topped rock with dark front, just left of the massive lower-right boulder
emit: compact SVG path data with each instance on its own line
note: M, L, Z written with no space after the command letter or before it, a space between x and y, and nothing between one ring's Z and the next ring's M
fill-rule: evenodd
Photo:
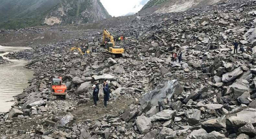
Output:
M218 119L211 119L203 122L202 128L208 133L211 133L213 131L225 131L226 125L224 123L221 123Z

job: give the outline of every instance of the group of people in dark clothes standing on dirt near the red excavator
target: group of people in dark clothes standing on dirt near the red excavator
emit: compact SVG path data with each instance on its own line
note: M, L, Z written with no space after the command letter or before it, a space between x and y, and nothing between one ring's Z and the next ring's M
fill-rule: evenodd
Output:
M97 101L99 101L99 84L97 82L94 82L93 87L93 101L94 105L97 106ZM107 83L107 80L103 81L103 100L104 100L104 106L107 107L107 102L109 101L110 91L109 91L109 84Z

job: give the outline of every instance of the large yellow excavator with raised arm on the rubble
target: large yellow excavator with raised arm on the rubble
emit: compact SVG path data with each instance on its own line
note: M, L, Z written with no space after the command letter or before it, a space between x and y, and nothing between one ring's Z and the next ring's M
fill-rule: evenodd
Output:
M105 42L106 37L110 42ZM102 54L109 58L123 57L124 49L115 46L114 37L108 32L106 28L103 30L103 40L99 43L99 48L103 49Z

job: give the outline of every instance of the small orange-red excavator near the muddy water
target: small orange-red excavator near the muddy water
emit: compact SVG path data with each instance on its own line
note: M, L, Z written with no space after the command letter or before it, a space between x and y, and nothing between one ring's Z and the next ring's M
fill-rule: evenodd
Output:
M67 87L62 84L62 77L52 79L52 100L56 100L57 96L68 99Z

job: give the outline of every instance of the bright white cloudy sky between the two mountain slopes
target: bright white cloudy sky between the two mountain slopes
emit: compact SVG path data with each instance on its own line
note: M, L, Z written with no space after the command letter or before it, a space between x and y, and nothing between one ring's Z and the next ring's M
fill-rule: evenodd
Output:
M137 13L149 0L100 0L111 16Z

